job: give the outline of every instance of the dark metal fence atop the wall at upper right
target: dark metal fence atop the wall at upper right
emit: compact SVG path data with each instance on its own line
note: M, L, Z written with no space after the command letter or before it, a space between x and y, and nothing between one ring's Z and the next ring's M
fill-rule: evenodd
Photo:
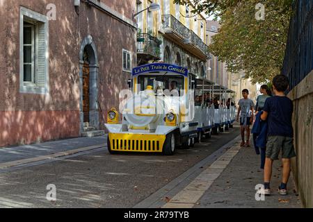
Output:
M294 2L282 74L288 76L290 90L313 69L313 0Z

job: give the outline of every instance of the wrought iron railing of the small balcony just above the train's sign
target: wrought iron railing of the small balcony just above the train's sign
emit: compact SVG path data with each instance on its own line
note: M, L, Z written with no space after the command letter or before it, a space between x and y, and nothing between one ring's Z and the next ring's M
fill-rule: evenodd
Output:
M148 33L138 33L137 35L137 52L148 53L159 58L161 53L161 41Z

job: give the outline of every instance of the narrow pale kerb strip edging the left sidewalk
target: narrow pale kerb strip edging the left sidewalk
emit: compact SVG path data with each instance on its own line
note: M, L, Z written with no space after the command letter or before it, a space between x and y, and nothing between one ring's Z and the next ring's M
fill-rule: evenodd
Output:
M65 157L67 155L73 155L76 153L82 153L84 151L91 151L97 148L104 148L106 146L104 145L95 145L95 146L88 146L88 147L83 147L83 148L78 148L75 150L70 150L70 151L64 151L64 152L60 152L60 153L54 153L54 154L50 154L50 155L42 155L40 157L33 157L33 158L29 158L29 159L24 159L24 160L15 160L12 162L5 162L0 164L0 169L8 169L10 167L17 167L19 165L24 165L24 164L29 164L29 163L33 163L33 162L40 162L42 160L52 160L52 159L56 159L58 157Z

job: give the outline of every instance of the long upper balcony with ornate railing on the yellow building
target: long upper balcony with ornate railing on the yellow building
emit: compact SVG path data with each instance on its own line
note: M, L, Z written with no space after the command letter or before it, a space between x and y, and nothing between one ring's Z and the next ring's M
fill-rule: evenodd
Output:
M210 58L209 47L189 28L172 15L162 15L163 31L170 40L198 56L202 60Z

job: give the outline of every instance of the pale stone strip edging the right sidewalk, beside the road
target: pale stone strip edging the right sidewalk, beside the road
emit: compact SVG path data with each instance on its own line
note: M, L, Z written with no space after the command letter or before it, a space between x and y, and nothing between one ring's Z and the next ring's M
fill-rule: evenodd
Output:
M232 158L240 150L239 142L236 142L230 150L221 155L211 166L207 167L200 175L189 183L182 191L176 194L162 208L192 208L203 196L204 192L211 187L214 180L223 173L230 164Z

